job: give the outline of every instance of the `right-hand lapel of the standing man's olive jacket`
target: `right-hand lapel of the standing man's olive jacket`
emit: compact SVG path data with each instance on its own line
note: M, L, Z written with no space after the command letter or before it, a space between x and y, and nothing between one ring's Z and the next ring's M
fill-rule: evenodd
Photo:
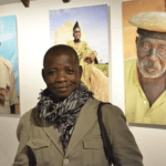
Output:
M82 107L74 131L72 133L71 139L66 147L65 155L68 155L73 149L73 147L77 144L77 142L86 134L86 132L92 127L92 125L96 121L97 106L98 102L95 102L95 100L93 98L89 98L86 104Z

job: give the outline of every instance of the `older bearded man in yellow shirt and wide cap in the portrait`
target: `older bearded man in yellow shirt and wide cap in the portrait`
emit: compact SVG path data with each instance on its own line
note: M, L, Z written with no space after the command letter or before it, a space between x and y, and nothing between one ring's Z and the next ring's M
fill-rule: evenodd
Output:
M166 125L166 13L143 12L137 27L137 59L125 61L126 117L129 123Z

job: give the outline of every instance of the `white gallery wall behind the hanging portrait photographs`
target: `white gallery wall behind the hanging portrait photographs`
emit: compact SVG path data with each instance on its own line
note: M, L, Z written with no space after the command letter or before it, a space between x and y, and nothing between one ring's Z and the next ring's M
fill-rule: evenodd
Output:
M49 10L93 4L108 4L110 9L110 94L111 102L124 111L123 37L121 0L31 1L0 7L0 17L15 14L21 115L35 106L40 90L45 87L41 76L42 60L50 48ZM11 165L17 153L15 129L20 116L0 116L0 166ZM145 166L166 166L166 131L129 127L143 153Z

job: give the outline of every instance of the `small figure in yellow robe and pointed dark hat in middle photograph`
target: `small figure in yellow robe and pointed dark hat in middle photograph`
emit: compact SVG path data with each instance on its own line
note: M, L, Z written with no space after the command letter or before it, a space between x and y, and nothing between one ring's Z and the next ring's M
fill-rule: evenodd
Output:
M80 64L83 68L82 82L89 86L91 82L91 72L94 63L98 63L95 53L90 49L85 41L81 41L81 29L79 22L73 28L73 41L69 41L68 45L72 46L80 60Z

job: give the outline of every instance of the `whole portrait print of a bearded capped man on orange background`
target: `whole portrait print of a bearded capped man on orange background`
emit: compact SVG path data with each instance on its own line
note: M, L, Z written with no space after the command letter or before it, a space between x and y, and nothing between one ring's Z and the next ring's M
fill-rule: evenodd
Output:
M125 115L129 124L166 125L165 7L165 0L123 2Z

